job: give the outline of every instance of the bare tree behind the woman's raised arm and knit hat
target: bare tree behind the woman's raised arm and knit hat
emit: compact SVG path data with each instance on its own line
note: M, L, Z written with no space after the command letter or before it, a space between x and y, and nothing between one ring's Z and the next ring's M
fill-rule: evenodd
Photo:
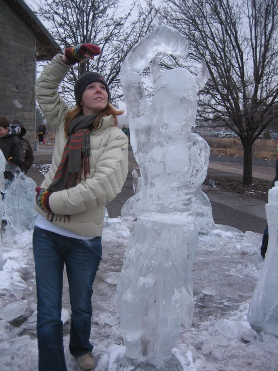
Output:
M74 66L61 84L61 93L68 103L74 102L73 85L77 78L91 70L107 80L111 101L122 99L121 63L149 32L157 12L152 0L148 11L136 0L129 8L120 0L44 0L36 3L36 7L36 14L51 26L49 31L62 49L81 43L95 44L101 49L95 62L86 60Z

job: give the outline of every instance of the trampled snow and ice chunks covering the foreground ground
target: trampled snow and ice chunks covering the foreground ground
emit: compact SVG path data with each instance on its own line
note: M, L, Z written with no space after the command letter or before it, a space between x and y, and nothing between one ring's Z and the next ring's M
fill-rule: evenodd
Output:
M109 219L103 231L103 260L92 298L91 341L96 371L119 370L115 359L124 354L118 307L113 304L113 296L129 236L126 225L119 219ZM173 349L184 371L278 369L278 339L255 333L246 320L263 264L259 255L260 241L258 233L246 232L244 235L223 225L217 225L207 236L200 236L194 264L194 319L190 329L181 328L177 347ZM12 239L4 237L3 252L6 263L0 271L0 317L9 322L0 320L0 371L36 371L32 233L25 231ZM10 307L5 311L7 306ZM63 308L70 314L66 276ZM10 320L13 314L20 315ZM69 321L64 324L68 370L80 370L69 353L68 343ZM171 368L171 371L176 370Z

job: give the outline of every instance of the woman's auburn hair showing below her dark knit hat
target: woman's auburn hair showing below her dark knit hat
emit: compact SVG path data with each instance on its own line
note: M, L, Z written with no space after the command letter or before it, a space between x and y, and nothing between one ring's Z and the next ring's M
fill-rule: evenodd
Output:
M106 107L96 117L94 125L93 125L93 129L96 129L98 127L99 122L102 119L102 117L109 116L110 114L113 116L114 121L115 121L114 125L112 126L117 126L118 125L117 116L119 116L120 114L123 114L123 111L116 109L115 107L112 106L110 102L108 102ZM71 109L70 111L66 113L64 130L65 130L65 136L67 139L69 138L68 130L69 130L71 121L75 119L76 117L79 117L82 115L83 115L83 109L82 109L82 105L80 104L78 104L75 108Z

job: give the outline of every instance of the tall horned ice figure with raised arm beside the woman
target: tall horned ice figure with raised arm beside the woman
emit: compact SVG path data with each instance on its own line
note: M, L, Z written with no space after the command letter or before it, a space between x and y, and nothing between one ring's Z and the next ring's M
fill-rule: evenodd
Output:
M163 56L181 58L187 52L187 41L178 31L160 26L129 52L121 67L131 144L141 177L133 171L136 193L122 208L124 218L137 222L115 301L120 301L126 355L136 362L160 364L170 359L181 324L189 327L193 318L191 267L199 208L192 203L202 199L199 189L207 173L209 146L190 129L195 126L197 93L207 82L208 70L205 61L199 76L184 68L159 70ZM152 59L155 89L149 104L140 73ZM202 210L204 214L206 205Z

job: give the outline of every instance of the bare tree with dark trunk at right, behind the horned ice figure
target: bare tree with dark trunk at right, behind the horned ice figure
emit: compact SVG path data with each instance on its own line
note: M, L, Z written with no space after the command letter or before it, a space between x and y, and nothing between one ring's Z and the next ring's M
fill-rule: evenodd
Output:
M277 12L278 0L167 0L161 12L188 39L190 63L206 59L199 119L238 135L244 184L252 182L255 140L278 117Z

